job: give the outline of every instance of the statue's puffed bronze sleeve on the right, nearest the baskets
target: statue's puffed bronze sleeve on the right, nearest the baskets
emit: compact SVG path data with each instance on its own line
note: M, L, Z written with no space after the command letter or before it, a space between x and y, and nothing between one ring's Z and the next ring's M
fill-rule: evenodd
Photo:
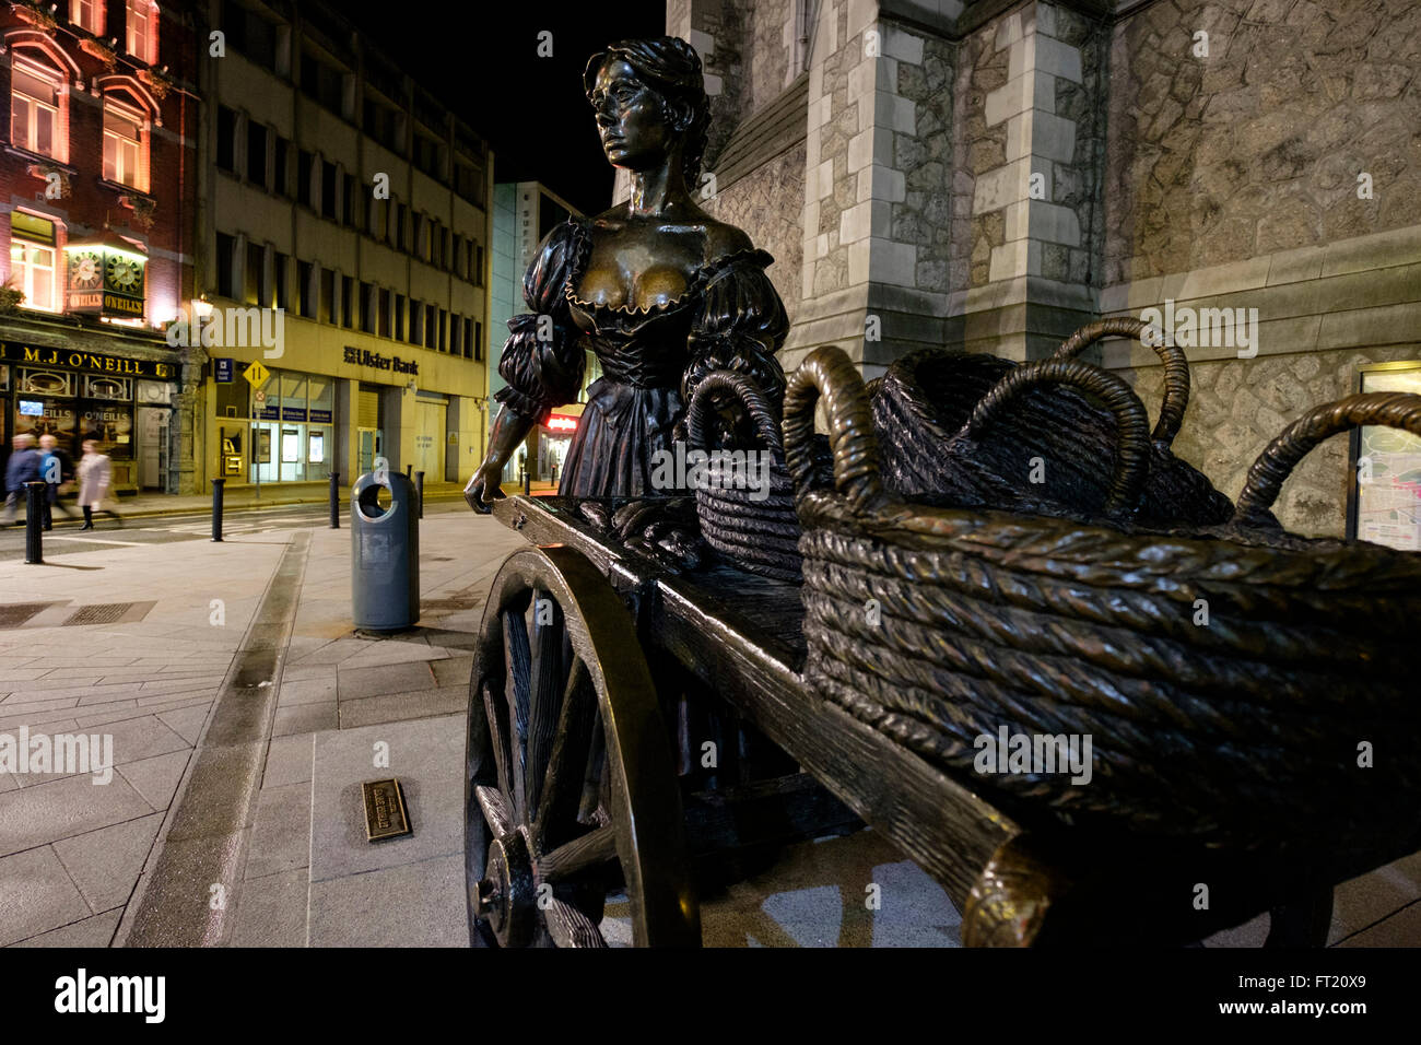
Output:
M790 321L764 274L773 260L764 250L740 250L713 263L691 331L691 365L681 380L688 402L712 370L749 375L776 408L784 401L784 370L774 353L784 344Z

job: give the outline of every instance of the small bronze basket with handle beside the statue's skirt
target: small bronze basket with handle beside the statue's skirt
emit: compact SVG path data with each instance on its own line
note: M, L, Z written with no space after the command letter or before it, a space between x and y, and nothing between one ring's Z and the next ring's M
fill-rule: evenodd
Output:
M686 444L691 449L715 451L710 422L718 398L729 395L743 407L760 434L763 446L742 448L770 452L770 489L752 491L745 463L710 456L702 482L696 485L696 516L701 535L722 556L750 573L774 580L800 582L799 516L794 486L784 471L784 446L779 419L759 387L743 374L718 370L706 374L686 407ZM759 499L756 499L759 498Z

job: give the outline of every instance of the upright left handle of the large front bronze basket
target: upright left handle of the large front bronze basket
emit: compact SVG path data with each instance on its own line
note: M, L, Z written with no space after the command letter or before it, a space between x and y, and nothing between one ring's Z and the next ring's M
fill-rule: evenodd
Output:
M794 499L803 500L818 486L810 442L820 397L828 411L834 488L855 510L870 508L882 498L884 489L878 479L878 441L868 395L844 350L831 344L804 357L784 391L784 461L794 479Z

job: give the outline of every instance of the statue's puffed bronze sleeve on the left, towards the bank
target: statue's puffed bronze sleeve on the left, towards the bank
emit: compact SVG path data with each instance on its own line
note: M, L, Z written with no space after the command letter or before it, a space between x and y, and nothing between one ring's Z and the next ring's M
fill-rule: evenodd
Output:
M529 311L509 320L512 333L499 360L499 375L507 385L493 398L537 424L556 407L577 400L583 385L587 357L563 287L585 245L585 232L574 220L553 229L523 276Z

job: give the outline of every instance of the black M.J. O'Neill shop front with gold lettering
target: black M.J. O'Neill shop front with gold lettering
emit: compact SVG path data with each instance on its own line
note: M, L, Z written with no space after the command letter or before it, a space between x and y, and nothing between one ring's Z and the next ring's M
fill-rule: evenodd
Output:
M162 491L176 377L165 360L0 341L6 446L53 435L77 461L92 439L112 461L115 491Z

